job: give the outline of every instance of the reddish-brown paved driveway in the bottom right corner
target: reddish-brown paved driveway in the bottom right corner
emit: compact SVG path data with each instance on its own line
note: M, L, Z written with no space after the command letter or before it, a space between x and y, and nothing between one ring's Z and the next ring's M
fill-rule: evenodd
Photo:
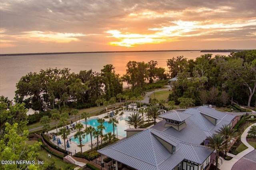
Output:
M256 150L248 153L238 160L232 167L232 170L255 170L256 169Z

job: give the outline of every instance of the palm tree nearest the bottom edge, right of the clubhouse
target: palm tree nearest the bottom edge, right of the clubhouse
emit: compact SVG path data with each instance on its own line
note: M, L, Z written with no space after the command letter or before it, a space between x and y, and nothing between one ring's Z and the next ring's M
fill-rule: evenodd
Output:
M219 159L219 153L224 149L223 142L224 142L224 136L220 134L214 134L208 139L208 147L210 149L216 150L216 170L218 170L218 159Z

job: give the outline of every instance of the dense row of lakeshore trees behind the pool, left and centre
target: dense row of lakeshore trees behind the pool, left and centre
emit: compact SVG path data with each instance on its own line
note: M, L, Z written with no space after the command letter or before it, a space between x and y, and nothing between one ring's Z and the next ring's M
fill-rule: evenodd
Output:
M123 94L123 82L131 85L131 90L141 94L145 84L153 79L166 79L164 68L158 68L157 61L148 63L130 61L126 74L116 74L112 64L107 64L101 72L81 70L71 73L69 68L48 68L39 73L29 72L16 84L15 102L26 104L27 108L43 111L45 106L61 109L62 106L87 108L103 104L102 99L111 102L111 98ZM132 95L128 92L129 97ZM123 98L123 97L122 97ZM113 99L112 99L113 100Z

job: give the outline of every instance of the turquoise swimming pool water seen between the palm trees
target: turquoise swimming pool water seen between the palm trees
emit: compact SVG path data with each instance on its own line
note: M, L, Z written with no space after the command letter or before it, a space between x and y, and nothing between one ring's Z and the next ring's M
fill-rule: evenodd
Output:
M119 119L118 119L118 124L117 124L117 128L115 127L115 135L116 135L116 129L117 129L117 134L118 136L122 136L122 137L126 137L126 129L129 128L129 125L126 124L126 120L128 120L128 116L129 115L122 115ZM97 126L100 125L100 123L97 122L97 119L98 118L92 118L92 119L88 119L87 120L87 125L91 125L92 127L94 127L96 130L97 129ZM81 121L82 124L85 125L85 121ZM112 132L113 134L113 125L112 123L108 123L107 121L105 121L103 123L103 125L106 127L106 129L103 129L102 133L103 134L106 134L108 132ZM96 138L94 138L92 136L92 140L95 140ZM75 142L77 144L80 144L79 143L79 139L78 138L74 138L74 136L71 137L71 141L72 142ZM91 137L90 137L90 134L86 135L84 139L82 139L82 144L85 144L85 143L88 143L91 141Z

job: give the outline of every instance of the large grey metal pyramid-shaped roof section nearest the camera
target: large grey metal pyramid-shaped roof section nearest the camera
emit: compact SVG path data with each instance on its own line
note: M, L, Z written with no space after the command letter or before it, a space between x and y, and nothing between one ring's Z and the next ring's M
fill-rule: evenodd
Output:
M175 146L176 152L171 154L156 137ZM187 149L190 149L190 152L187 152ZM176 137L149 128L112 147L100 149L98 152L138 170L169 170L177 166L184 158L201 163L201 160L205 160L213 152L208 149L209 152L202 154L204 149L208 148L185 143Z

